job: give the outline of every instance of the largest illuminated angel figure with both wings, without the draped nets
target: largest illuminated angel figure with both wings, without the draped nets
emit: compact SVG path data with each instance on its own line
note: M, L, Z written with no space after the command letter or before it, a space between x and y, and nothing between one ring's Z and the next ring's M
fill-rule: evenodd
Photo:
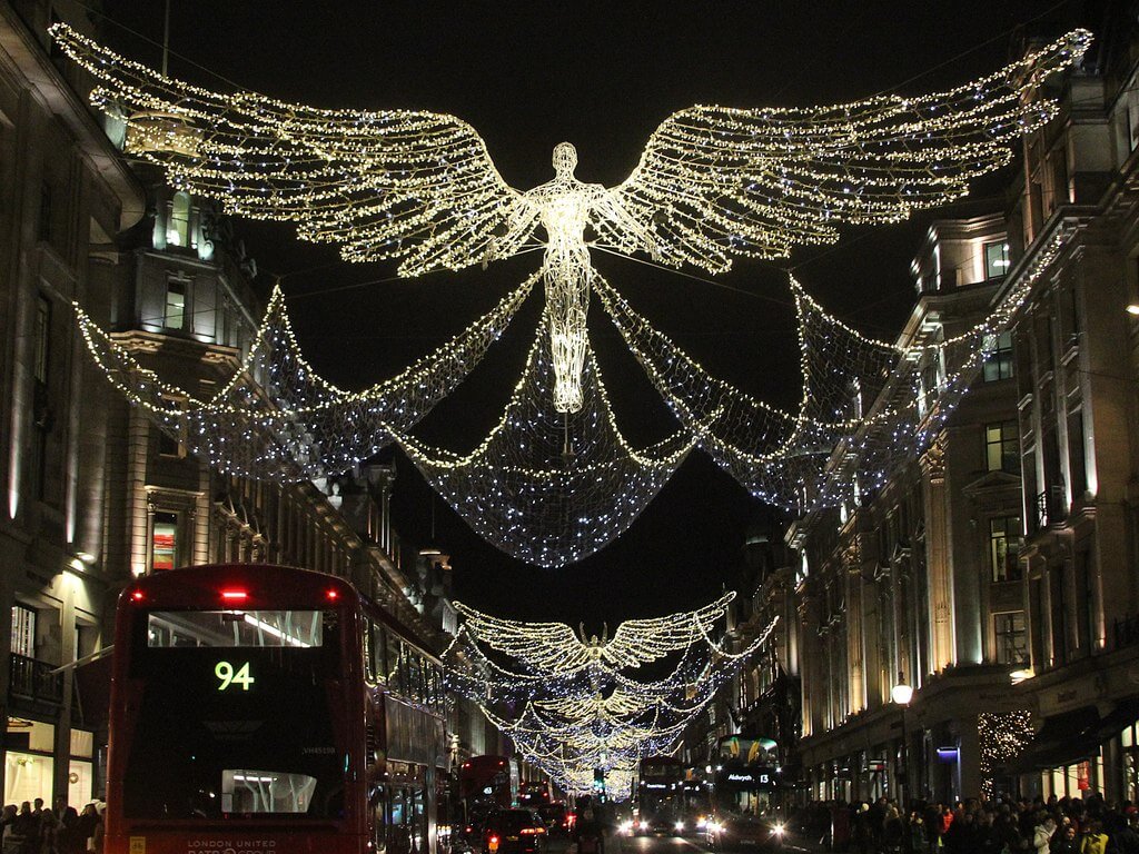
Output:
M92 101L126 121L129 147L228 213L294 221L304 239L338 244L349 260L399 258L409 277L508 257L544 230L559 412L582 405L595 279L587 229L599 247L721 272L737 256L781 257L833 241L841 223L903 220L1008 163L1010 141L1056 113L1036 96L1043 76L1077 61L1090 41L1075 31L991 76L919 98L689 107L654 131L621 184L576 180L576 153L562 143L555 180L522 192L453 116L220 95L65 25L52 35L95 75Z

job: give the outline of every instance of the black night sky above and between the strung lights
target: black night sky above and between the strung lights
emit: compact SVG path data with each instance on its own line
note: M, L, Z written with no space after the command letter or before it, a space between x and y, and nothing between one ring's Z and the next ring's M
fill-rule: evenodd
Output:
M667 0L661 2L280 2L171 0L170 71L212 89L226 80L320 107L415 108L457 115L486 140L513 186L549 180L563 140L577 176L623 180L648 136L696 102L806 106L884 90L920 95L1003 65L1017 26L1046 34L1091 24L1049 0ZM163 3L106 0L108 16L161 41ZM1035 20L1034 20L1035 19ZM1063 26L1062 26L1063 25ZM157 66L154 43L107 25L113 48ZM204 66L210 73L186 60ZM224 79L221 80L220 77ZM1007 180L1007 176L1006 176ZM1001 181L978 188L992 198ZM836 314L892 338L913 301L908 278L921 221L847 229L837 247L786 263L738 262L718 284L609 256L597 266L658 329L714 375L775 402L794 400L795 338L782 266ZM394 265L347 265L300 244L290 227L243 223L263 270L284 280L301 345L327 378L359 388L396 372L490 309L536 268L530 254L489 271L390 279ZM697 271L689 271L697 272ZM361 287L346 287L372 282ZM262 284L268 288L268 278ZM468 450L498 418L522 366L530 305L469 383L417 433ZM590 319L615 409L634 444L670 432L639 369L595 309ZM638 385L639 384L639 385ZM612 389L611 388L611 392ZM611 625L689 609L719 594L762 508L698 452L616 543L547 570L476 537L400 459L396 525L452 555L457 598L526 619Z

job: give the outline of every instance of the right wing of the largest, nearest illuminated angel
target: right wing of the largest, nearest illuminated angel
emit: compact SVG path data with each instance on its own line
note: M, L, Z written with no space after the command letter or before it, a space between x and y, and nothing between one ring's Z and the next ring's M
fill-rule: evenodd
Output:
M648 240L623 217L595 224L626 251L716 272L736 255L779 257L833 241L839 223L902 220L1008 163L1009 142L1056 113L1054 100L1032 100L1034 90L1079 61L1090 39L1077 30L992 76L920 98L683 109L654 131L637 169L611 191L613 207Z

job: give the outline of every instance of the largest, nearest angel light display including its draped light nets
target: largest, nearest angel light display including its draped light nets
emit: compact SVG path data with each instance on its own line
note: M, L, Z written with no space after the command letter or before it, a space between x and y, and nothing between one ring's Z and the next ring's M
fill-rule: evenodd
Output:
M874 340L789 282L801 394L784 410L711 376L593 269L597 246L659 263L727 270L837 239L846 223L888 223L966 192L1009 162L1056 102L1051 73L1077 63L1074 31L999 72L916 98L811 108L695 106L650 136L630 176L605 188L554 153L555 179L510 188L485 143L453 116L329 110L170 79L57 24L59 47L96 81L92 102L126 123L128 145L179 189L235 215L286 220L347 260L398 258L400 274L509 257L535 240L540 270L399 377L363 392L322 379L276 290L247 358L200 400L146 368L146 347L77 310L89 350L129 400L208 465L265 479L335 475L398 443L483 537L543 567L595 553L699 447L753 495L795 512L845 506L932 441L993 350L1049 253L990 317L961 335ZM543 240L544 232L544 240ZM546 310L499 422L469 452L410 430L450 394L542 281ZM585 331L592 294L679 429L647 447L623 436ZM937 368L929 378L931 366Z

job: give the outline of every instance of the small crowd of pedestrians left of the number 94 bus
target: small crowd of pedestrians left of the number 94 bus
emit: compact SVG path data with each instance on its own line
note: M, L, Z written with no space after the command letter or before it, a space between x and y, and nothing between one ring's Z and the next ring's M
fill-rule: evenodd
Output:
M56 799L46 810L43 798L3 807L0 815L2 854L87 854L103 852L103 804L90 803L83 812Z

